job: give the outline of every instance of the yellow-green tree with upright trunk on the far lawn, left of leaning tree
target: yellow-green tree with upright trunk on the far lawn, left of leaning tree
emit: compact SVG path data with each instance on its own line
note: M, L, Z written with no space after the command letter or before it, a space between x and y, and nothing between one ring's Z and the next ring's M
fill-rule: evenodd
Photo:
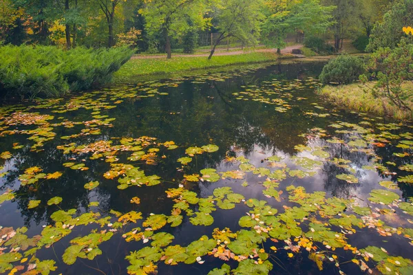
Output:
M160 32L165 37L167 58L171 58L171 36L179 37L191 28L207 26L210 19L204 17L204 12L207 5L203 0L145 0L145 8L140 10L148 32Z

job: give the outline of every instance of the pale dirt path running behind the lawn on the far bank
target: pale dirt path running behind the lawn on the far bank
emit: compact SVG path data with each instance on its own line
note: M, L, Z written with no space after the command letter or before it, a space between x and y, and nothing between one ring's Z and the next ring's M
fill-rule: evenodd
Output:
M303 45L293 45L289 47L285 47L284 49L281 50L281 54L290 54L293 50L299 50L301 47L304 47ZM248 52L248 51L246 51ZM232 51L232 52L226 52L226 51L220 51L220 52L215 52L213 56L236 56L238 54L245 54L246 53L243 50L238 50L238 51ZM259 50L252 50L251 52L277 52L277 49L259 49ZM172 54L172 58L174 57L208 57L209 52L205 54ZM153 59L153 58L165 58L166 54L154 54L154 55L134 55L132 56L131 59Z

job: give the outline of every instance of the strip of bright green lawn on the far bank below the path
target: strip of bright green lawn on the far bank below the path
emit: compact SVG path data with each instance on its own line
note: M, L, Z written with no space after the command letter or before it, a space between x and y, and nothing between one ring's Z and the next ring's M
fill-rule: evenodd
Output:
M176 72L191 71L193 69L206 69L224 67L228 65L260 63L275 61L279 58L271 52L251 52L233 56L213 56L211 60L206 57L176 57L171 59L131 59L116 72L115 80L123 81L135 76L153 74L171 74Z

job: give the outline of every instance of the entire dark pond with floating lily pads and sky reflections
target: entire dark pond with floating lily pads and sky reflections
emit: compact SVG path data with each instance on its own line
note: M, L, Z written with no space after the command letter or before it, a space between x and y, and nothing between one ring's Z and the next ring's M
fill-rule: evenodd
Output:
M412 125L323 65L3 104L0 273L413 274Z

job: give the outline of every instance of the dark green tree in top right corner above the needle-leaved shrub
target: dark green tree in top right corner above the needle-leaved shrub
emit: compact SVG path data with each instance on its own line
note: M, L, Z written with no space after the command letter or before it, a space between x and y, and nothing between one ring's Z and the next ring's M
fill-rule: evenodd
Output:
M413 0L400 0L384 15L383 21L374 25L367 50L374 52L380 47L397 47L405 34L403 27L413 21Z

